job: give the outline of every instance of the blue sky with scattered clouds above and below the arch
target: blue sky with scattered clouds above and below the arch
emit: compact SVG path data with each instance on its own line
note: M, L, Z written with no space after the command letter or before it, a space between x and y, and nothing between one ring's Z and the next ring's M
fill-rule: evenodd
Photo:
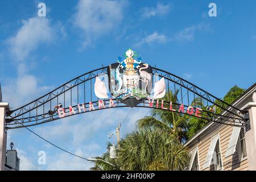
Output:
M47 7L38 17L38 3ZM208 5L217 5L217 17ZM256 2L233 1L0 1L0 81L14 109L82 73L115 63L127 48L144 62L183 77L217 97L233 85L249 88L256 73ZM105 152L106 135L130 109L76 115L31 127L86 158ZM147 109L131 111L121 135ZM115 117L113 117L115 115ZM49 146L26 129L8 131L21 169L86 170L90 162ZM8 143L8 144L9 144ZM46 151L46 165L38 164Z

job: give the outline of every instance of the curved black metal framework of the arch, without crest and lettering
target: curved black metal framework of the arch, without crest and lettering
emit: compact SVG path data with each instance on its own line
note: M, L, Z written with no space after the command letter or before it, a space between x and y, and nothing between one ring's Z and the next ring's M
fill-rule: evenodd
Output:
M55 106L60 102L63 104L64 110L69 110L69 106L72 106L76 114L80 114L78 106L80 103L85 105L85 109L88 109L90 103L93 104L93 106L98 106L99 98L93 94L93 82L96 77L106 77L107 75L108 67L95 69L94 71L90 71L66 82L44 96L29 102L18 109L7 111L6 129L40 125L42 123L60 119L57 112L49 113L49 111L55 110ZM193 115L193 117L199 117L207 119L208 121L223 123L225 125L246 127L245 111L229 105L191 82L172 73L163 71L162 69L152 68L152 75L153 77L164 78L167 82L167 92L175 92L175 90L179 90L178 98L180 103L172 103L172 105L183 105L185 110L184 114L187 114L189 106L195 108L199 107L201 110L200 117L197 115ZM154 81L152 84L154 86ZM195 101L196 98L200 101L200 104L197 104L197 106L193 104L193 101ZM113 108L110 107L110 100L113 101L115 107L127 107L121 101L113 98L111 94L109 94L109 99L102 100L105 108L101 109ZM156 104L158 101L154 101L154 105L151 106L150 102L150 100L143 100L137 107L166 109L159 106L162 101L159 101L159 104ZM168 100L163 101L163 103L165 105L170 104L170 97ZM206 109L209 106L218 107L222 112L220 114L213 113ZM89 110L86 112L88 111Z

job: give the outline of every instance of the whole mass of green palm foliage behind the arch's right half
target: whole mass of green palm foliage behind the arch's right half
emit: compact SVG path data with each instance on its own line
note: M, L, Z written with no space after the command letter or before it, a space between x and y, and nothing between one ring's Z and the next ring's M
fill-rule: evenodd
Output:
M233 86L223 100L232 104L244 89ZM164 101L178 103L178 90L174 93L167 91ZM226 107L220 101L216 104ZM200 98L192 101L192 106L201 106ZM164 107L168 107L164 104ZM177 109L177 105L173 106ZM206 106L203 106L203 109ZM217 107L217 113L220 113ZM91 170L184 170L189 163L188 148L181 142L192 138L199 130L208 124L208 121L168 110L152 109L150 117L144 117L137 121L138 130L133 131L121 139L117 149L117 159L110 159L106 152L94 162Z

